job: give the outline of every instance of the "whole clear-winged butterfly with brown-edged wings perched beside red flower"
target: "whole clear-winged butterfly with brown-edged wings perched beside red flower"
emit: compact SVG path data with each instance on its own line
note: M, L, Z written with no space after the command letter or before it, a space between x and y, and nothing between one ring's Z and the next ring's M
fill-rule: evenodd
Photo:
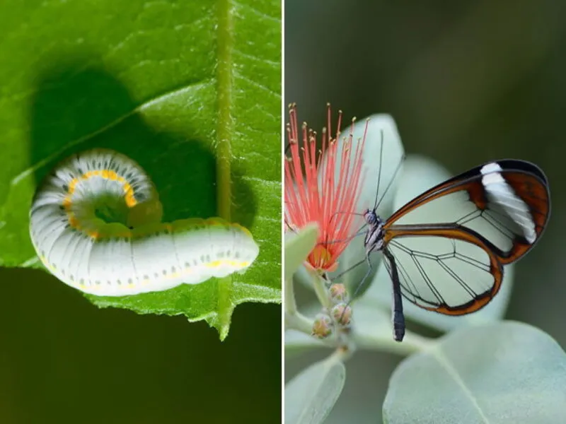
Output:
M388 219L377 214L378 205L376 199L363 213L366 257L358 264L366 261L370 269L358 289L371 271L369 255L383 253L393 285L393 338L403 341L403 298L424 310L463 315L497 295L504 265L541 238L550 191L533 163L497 160L441 182Z

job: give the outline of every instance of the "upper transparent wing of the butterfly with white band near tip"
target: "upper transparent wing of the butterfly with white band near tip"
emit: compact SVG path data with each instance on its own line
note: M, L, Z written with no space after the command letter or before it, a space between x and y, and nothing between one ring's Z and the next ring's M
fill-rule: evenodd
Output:
M541 170L520 160L486 165L424 192L388 219L386 241L411 225L454 224L485 242L502 264L523 256L541 236L550 213L550 194Z

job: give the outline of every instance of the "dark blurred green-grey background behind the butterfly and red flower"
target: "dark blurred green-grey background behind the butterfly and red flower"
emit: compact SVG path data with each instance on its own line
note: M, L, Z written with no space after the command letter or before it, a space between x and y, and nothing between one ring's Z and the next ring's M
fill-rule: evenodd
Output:
M507 319L566 346L566 3L374 0L285 2L285 102L320 129L325 103L345 118L389 113L407 153L457 174L518 158L550 180L552 216L516 264ZM286 377L328 351L286 363ZM381 422L388 379L402 358L358 352L328 419Z

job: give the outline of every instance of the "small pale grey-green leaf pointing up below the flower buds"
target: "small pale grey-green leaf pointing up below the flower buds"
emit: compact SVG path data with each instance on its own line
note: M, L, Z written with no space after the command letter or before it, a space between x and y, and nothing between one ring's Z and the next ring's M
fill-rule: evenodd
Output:
M301 371L285 385L285 423L323 423L346 379L344 364L331 356Z

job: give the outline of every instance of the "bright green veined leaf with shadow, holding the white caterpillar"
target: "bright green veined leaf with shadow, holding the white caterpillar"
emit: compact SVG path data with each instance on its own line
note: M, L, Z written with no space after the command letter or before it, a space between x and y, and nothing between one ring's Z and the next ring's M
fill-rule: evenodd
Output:
M222 216L250 229L260 255L243 276L91 301L206 319L221 338L239 303L280 302L280 8L4 2L0 265L37 266L28 235L37 183L70 153L105 147L154 179L165 220Z

